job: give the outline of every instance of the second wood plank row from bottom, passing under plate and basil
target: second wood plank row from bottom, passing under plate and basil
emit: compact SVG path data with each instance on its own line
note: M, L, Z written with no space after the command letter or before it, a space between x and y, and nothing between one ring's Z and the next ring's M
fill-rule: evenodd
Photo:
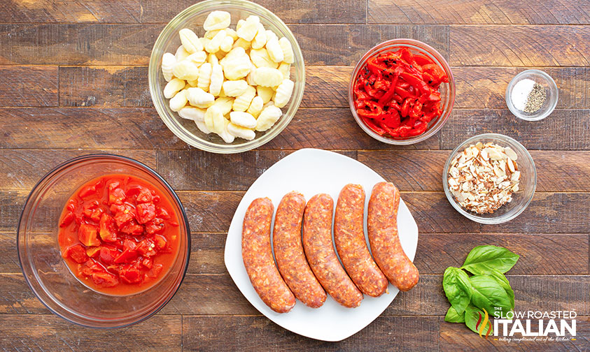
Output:
M0 274L0 316L3 314L47 314L49 311L30 290L20 274ZM587 294L590 277L579 275L513 275L507 279L514 289L516 309L575 309L590 314ZM297 302L297 304L302 304ZM361 303L362 304L362 303ZM412 291L399 293L382 316L444 316L449 302L442 291L442 274L421 274ZM261 316L239 291L229 274L187 274L162 314Z

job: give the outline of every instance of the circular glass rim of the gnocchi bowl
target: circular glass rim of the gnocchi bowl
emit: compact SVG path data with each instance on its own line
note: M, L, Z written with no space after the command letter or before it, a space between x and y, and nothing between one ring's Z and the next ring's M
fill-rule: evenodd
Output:
M196 12L202 10L216 10L218 8L223 8L224 4L231 4L233 6L237 6L241 8L241 10L245 10L247 12L254 13L259 12L264 14L267 17L272 19L272 24L276 27L281 27L281 30L286 32L286 37L289 39L289 42L293 46L293 54L295 57L300 59L300 66L296 66L293 64L293 67L300 67L301 70L301 79L297 78L297 80L293 81L296 85L300 85L301 90L300 93L297 94L298 91L294 89L293 96L289 101L289 106L293 105L294 110L292 114L287 114L287 112L283 112L282 118L279 119L278 122L271 127L269 131L265 134L260 135L258 138L254 138L253 140L248 140L240 145L232 145L232 144L221 144L215 142L209 142L206 140L202 140L202 138L198 138L193 133L188 133L185 131L184 128L179 127L180 124L174 122L174 119L170 118L167 114L166 109L160 104L157 103L157 96L162 95L162 91L160 87L156 87L156 78L155 75L159 73L158 65L159 65L159 56L157 55L157 50L163 50L163 42L164 42L164 34L168 36L167 32L174 31L176 27L178 27L178 22L184 20L185 18L191 17ZM297 62L297 61L295 61ZM182 10L178 15L174 16L170 22L166 24L166 26L160 31L160 34L157 36L155 43L153 45L152 51L150 53L150 61L148 65L148 87L150 88L150 98L154 105L154 108L157 112L157 115L160 117L162 122L167 126L167 128L180 140L187 143L188 145L195 147L197 149L204 150L205 152L212 152L217 154L236 154L241 152L248 152L248 150L252 150L262 145L265 145L267 142L270 142L277 135L279 135L288 124L290 124L293 117L299 110L301 102L303 100L303 94L305 90L305 61L303 57L303 53L301 51L301 47L297 38L290 30L290 28L281 20L279 16L273 13L271 10L265 8L258 3L253 3L248 0L205 0L198 3L194 3L191 6L188 6L184 10Z

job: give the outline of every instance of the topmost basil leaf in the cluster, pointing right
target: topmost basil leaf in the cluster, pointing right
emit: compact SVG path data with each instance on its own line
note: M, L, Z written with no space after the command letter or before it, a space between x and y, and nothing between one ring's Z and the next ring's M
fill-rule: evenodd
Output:
M492 269L505 273L519 260L519 255L504 247L478 246L472 249L461 269L472 274L488 274Z

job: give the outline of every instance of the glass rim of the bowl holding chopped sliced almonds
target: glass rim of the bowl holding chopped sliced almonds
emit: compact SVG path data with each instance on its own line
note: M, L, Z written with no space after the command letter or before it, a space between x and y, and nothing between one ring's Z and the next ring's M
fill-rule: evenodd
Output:
M533 189L531 190L531 196L528 198L528 200L526 201L524 206L522 206L517 212L514 212L514 214L511 214L510 217L503 218L502 215L500 215L499 217L484 218L484 217L479 217L478 215L472 214L471 212L467 212L466 210L463 209L463 207L461 207L461 205L458 205L457 201L455 200L455 198L451 194L451 191L449 190L447 175L449 174L449 166L451 166L451 160L453 159L453 156L456 155L458 152L460 152L459 149L461 149L461 147L468 145L469 143L475 142L477 140L486 139L486 138L491 139L491 140L500 140L500 141L507 140L510 143L514 143L514 145L517 145L517 147L519 147L521 149L521 152L523 152L523 154L526 156L526 159L531 161L531 166L533 169ZM463 149L464 148L465 147L463 147ZM451 205L455 208L455 210L457 212L459 212L461 215L463 215L464 217L466 217L472 221L475 221L477 223L483 223L486 225L496 225L498 223L505 223L507 221L510 221L510 220L518 217L522 212L524 212L524 210L526 210L528 205L531 204L531 201L533 200L533 196L535 196L535 191L537 189L537 167L535 166L535 161L533 160L533 156L531 156L531 153L528 152L528 149L526 149L526 147L524 147L524 145L522 145L518 140L515 140L512 137L509 137L507 135L503 135L500 133L482 133L479 135L474 135L474 136L464 140L463 142L459 143L457 145L457 147L455 147L455 149L453 149L451 154L449 154L449 158L447 158L447 161L444 163L444 168L442 170L442 186L444 189L444 194L445 194L445 196L447 196L447 200L449 200L449 203L451 203Z

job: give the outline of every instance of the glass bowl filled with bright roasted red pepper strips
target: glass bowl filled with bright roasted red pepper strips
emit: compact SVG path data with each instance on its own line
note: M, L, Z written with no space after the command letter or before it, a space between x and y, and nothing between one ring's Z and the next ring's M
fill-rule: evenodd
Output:
M393 145L426 140L453 109L455 82L449 64L433 47L393 39L369 50L349 85L351 112L372 138Z

